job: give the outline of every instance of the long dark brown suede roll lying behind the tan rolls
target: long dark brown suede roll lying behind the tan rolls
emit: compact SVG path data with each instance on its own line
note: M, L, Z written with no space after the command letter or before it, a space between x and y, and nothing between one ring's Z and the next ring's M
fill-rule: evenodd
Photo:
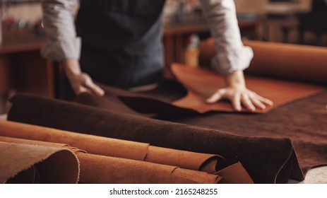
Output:
M148 142L198 153L219 154L230 163L242 163L256 183L287 182L290 174L303 180L290 139L239 136L215 129L165 122L59 100L16 95L8 120L69 131ZM88 115L88 116L85 116ZM284 173L287 161L292 170ZM280 180L276 180L280 177Z

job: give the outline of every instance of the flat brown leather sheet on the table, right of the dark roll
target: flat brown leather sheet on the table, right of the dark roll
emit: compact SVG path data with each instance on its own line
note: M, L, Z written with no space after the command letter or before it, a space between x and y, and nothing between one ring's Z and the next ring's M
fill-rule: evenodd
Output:
M266 114L207 113L170 121L246 136L290 138L304 174L327 165L327 91L280 106Z

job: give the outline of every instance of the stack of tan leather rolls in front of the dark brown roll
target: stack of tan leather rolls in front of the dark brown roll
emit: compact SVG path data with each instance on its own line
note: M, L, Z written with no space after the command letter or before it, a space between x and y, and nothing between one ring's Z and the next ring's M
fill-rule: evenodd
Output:
M251 183L218 155L0 122L1 182ZM77 148L78 147L78 148Z

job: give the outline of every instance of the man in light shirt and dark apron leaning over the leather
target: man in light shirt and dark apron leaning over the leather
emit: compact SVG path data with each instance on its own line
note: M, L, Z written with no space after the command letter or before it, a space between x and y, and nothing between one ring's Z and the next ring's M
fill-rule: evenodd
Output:
M42 55L63 63L74 93L103 95L92 79L120 88L157 83L164 66L161 13L165 0L81 0L76 30L75 4L76 0L42 1L49 40ZM242 104L251 111L272 105L245 86L243 70L253 52L242 44L234 1L201 0L201 4L218 50L213 69L226 76L226 87L213 93L208 103L227 98L235 110L241 110Z

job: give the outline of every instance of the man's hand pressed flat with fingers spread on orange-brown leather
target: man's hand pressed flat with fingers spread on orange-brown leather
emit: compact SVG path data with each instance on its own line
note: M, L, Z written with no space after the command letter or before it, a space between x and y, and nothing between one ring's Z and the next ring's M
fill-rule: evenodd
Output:
M207 103L216 103L220 99L228 99L237 111L242 110L242 105L251 112L256 109L266 109L273 105L271 100L250 91L245 86L243 71L234 71L226 76L227 86L220 88L207 99Z

